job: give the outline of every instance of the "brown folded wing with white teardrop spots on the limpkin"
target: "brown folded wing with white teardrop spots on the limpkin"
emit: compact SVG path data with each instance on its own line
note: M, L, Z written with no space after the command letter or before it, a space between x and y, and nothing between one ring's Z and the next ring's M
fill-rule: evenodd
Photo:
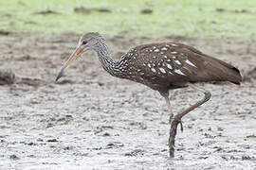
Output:
M222 81L239 83L239 71L192 46L176 42L139 45L131 50L133 67L158 83ZM149 79L149 81L151 80ZM151 80L152 81L152 80Z

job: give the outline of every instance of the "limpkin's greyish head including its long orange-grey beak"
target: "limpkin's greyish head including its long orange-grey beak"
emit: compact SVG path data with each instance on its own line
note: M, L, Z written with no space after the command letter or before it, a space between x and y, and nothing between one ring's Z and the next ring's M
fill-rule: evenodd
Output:
M89 32L87 34L84 34L75 51L71 54L71 56L64 62L64 65L62 66L58 76L56 77L56 81L63 76L64 70L67 69L74 60L80 58L82 54L91 49L96 49L99 45L99 42L103 40L101 35L98 32Z

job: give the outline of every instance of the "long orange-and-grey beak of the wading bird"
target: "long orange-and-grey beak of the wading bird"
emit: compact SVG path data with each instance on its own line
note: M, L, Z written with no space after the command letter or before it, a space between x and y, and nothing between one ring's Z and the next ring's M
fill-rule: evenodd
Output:
M58 81L58 79L60 79L60 77L63 76L64 70L67 69L74 62L74 60L78 59L83 52L84 50L82 46L79 45L77 49L73 52L73 54L64 62L64 65L62 66L58 76L55 79L56 81Z

